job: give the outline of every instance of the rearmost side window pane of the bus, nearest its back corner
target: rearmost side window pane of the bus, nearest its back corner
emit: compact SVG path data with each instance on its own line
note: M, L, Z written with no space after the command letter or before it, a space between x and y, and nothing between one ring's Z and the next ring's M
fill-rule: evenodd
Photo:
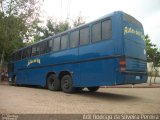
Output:
M111 20L102 22L102 40L109 39L112 36Z

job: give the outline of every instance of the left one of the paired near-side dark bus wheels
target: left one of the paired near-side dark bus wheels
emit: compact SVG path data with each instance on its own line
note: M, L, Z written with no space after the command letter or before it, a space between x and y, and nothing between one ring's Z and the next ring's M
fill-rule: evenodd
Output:
M58 91L60 90L60 80L55 75L50 75L47 78L47 87L49 90Z

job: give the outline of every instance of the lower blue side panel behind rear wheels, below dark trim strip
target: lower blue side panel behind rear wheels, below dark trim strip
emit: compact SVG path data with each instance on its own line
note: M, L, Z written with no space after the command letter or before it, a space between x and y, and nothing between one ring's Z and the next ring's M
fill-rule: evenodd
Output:
M115 84L114 59L80 64L81 86L105 86Z

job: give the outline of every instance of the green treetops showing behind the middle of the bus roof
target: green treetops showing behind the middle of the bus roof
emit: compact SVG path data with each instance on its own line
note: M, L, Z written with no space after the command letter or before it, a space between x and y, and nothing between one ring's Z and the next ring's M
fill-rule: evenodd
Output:
M85 23L84 17L77 16L72 23L68 20L65 21L56 21L53 19L47 20L46 26L37 26L36 34L34 35L33 41L39 41L41 39L47 38L49 36L64 32L71 28L77 27ZM30 44L30 43L29 43Z

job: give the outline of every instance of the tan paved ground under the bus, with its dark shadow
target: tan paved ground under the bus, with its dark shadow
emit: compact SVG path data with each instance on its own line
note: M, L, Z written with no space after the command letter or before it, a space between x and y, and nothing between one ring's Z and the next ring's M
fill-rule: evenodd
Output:
M0 113L152 114L160 113L160 88L100 88L76 94L0 85Z

